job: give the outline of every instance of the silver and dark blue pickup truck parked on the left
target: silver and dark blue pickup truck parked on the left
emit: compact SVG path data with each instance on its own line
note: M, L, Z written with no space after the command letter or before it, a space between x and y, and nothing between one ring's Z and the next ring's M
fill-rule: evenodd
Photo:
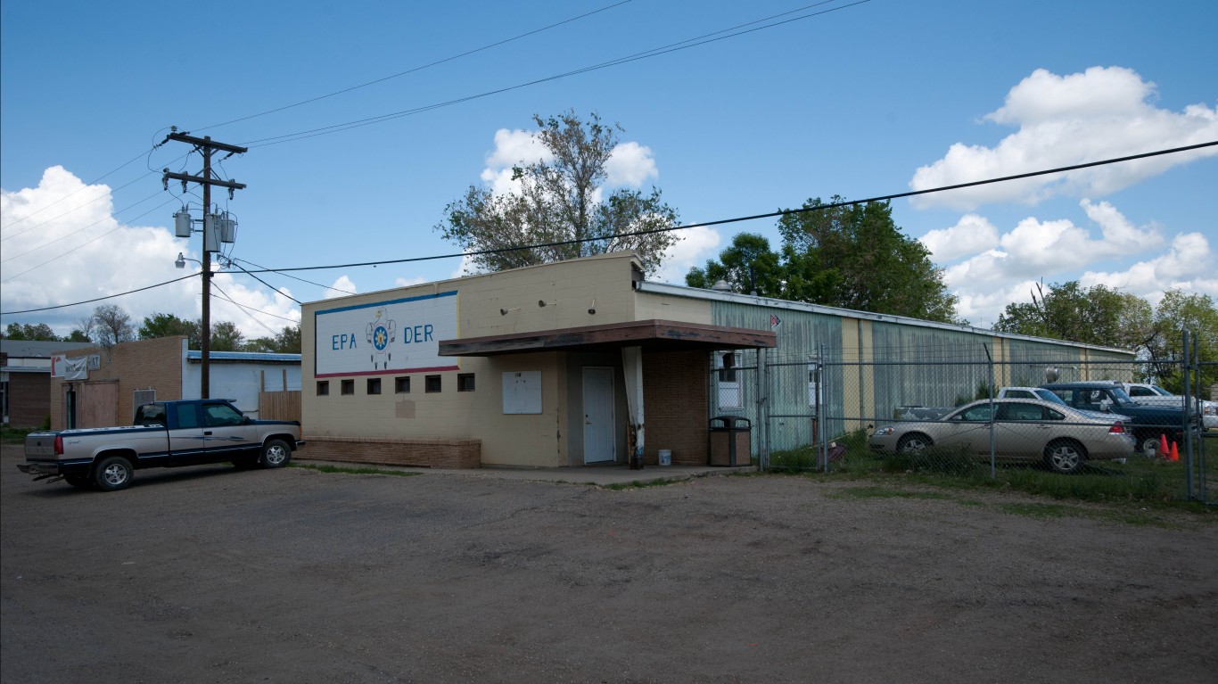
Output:
M253 421L223 399L155 401L135 410L134 426L30 433L17 468L35 480L114 491L140 468L224 461L279 468L303 445L297 421Z

